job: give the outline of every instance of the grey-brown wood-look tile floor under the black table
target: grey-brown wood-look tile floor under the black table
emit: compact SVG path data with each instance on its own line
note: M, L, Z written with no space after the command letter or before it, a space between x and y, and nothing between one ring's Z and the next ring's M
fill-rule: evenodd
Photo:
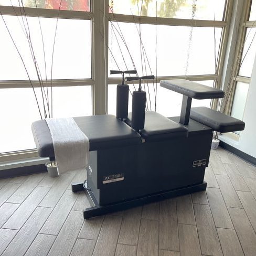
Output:
M256 255L256 167L219 148L207 190L84 220L83 171L0 180L0 255Z

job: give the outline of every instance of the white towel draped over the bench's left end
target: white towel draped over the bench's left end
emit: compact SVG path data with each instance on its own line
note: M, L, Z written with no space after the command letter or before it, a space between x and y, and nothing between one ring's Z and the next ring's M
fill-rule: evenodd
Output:
M46 119L50 129L58 173L88 166L89 139L73 118Z

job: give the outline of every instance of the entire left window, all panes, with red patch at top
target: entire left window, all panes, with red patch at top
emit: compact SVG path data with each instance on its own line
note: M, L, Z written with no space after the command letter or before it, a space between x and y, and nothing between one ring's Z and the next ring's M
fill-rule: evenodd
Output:
M9 8L14 14L0 17L0 153L34 149L31 123L40 118L93 112L91 20L70 18L68 12L62 12L66 18L41 17L39 9L31 17L27 7L35 3L46 9L59 9L61 3L60 13L90 10L87 0L0 0L0 8L24 5L22 14Z

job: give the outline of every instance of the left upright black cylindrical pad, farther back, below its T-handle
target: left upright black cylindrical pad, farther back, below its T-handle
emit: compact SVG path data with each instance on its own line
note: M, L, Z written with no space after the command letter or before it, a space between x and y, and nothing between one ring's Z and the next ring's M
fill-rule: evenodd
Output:
M116 117L126 119L128 116L129 86L118 84L116 88Z

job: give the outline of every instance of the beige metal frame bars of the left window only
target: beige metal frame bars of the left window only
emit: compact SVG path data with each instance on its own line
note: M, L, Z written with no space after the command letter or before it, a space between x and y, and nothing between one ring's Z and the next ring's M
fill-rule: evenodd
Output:
M43 8L31 8L24 7L27 17L42 17L42 18L65 18L65 19L82 19L91 21L91 78L87 79L52 79L52 87L73 87L73 86L91 86L92 87L92 114L94 114L94 88L95 88L95 74L94 74L94 13L95 8L91 1L91 12L81 12L73 10L56 10L56 9L43 9ZM12 16L24 16L24 10L16 6L0 6L2 15L12 15ZM46 83L46 80L42 80ZM31 80L35 88L40 87L38 80ZM49 82L49 80L48 80ZM31 84L29 80L2 80L0 81L0 89L10 89L10 88L30 88ZM6 161L15 161L17 159L37 157L38 153L35 149L23 150L23 151L13 151L7 153L0 153L0 163Z

